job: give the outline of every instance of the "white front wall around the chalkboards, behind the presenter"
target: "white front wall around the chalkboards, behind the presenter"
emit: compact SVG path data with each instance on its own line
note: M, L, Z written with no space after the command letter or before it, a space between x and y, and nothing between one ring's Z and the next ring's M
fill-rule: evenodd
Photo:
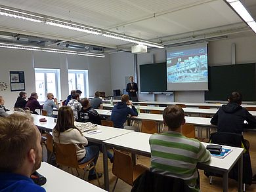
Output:
M251 35L251 34L250 34ZM208 45L209 50L209 66L231 64L231 47L232 43L236 45L236 64L245 64L256 62L256 35L236 37L232 39L224 39L219 41L211 41ZM112 69L112 82L123 82L126 70L131 71L133 64L129 64L131 69L127 69L125 61L127 55L124 53L113 54L111 57L112 68L118 67L117 70ZM118 58L118 60L116 60ZM150 50L145 54L137 54L138 74L140 64L152 64L165 62L165 50L156 49ZM119 71L119 74L117 74ZM134 73L130 72L130 73ZM117 75L116 75L117 74ZM137 80L139 84L139 77ZM114 84L113 84L114 85ZM113 89L114 87L112 87ZM175 102L204 102L204 91L175 91L174 95L166 96L165 94L139 94L140 100L156 100L156 101L171 101Z

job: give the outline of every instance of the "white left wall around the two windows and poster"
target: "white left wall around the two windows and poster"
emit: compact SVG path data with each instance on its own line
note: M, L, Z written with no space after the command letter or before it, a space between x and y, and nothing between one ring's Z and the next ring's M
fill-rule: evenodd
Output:
M110 57L93 58L87 56L70 56L50 52L32 52L0 48L0 82L9 85L7 90L0 90L0 96L5 98L5 106L12 109L18 92L11 92L9 71L24 71L25 86L28 96L35 92L34 67L60 69L61 98L68 96L68 69L89 70L89 94L93 96L96 90L111 94Z

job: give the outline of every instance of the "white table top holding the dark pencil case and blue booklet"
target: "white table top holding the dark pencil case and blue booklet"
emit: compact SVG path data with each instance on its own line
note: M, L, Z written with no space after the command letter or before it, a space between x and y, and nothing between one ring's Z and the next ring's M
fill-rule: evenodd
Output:
M145 134L142 132L131 132L117 138L112 138L106 140L103 144L122 147L129 151L135 151L136 153L150 156L150 144L148 142L151 134ZM131 142L133 141L133 142ZM208 145L203 143L203 145ZM207 163L200 164L200 168L211 166L218 170L230 170L232 165L236 163L240 155L243 153L244 149L238 147L229 147L223 145L226 149L232 149L231 153L228 154L224 159L219 159L217 157L211 157L211 160Z

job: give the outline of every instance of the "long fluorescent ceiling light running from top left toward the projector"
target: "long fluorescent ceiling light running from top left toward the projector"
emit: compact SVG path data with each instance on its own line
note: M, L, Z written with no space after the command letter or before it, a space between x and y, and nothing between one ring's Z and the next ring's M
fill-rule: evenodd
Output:
M131 42L131 43L147 45L150 47L163 48L163 45L160 43L145 41L143 39L131 37L129 35L112 33L111 31L106 31L104 29L85 26L83 24L77 24L75 22L60 20L58 18L51 18L49 16L45 16L41 14L39 15L33 12L26 12L24 10L12 9L11 7L1 6L1 5L0 5L0 15L11 16L14 18L20 18L20 19L29 20L32 22L43 22L45 24L49 24L51 26L56 26L60 28L72 29L72 30L81 31L84 33L91 33L93 35L102 35L104 37L110 37L110 38L119 39L122 41Z

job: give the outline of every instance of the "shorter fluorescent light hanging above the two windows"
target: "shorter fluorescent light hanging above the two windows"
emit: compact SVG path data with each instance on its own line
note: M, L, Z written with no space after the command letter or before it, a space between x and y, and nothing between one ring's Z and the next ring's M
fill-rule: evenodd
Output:
M79 52L73 50L61 50L56 48L43 48L43 47L35 47L35 46L27 46L27 45L16 45L10 43L0 43L1 48L14 48L20 50L35 50L35 51L43 51L43 52L56 52L61 54L73 54L73 55L81 55L81 56L93 56L93 57L105 57L104 54L96 54L91 52Z

